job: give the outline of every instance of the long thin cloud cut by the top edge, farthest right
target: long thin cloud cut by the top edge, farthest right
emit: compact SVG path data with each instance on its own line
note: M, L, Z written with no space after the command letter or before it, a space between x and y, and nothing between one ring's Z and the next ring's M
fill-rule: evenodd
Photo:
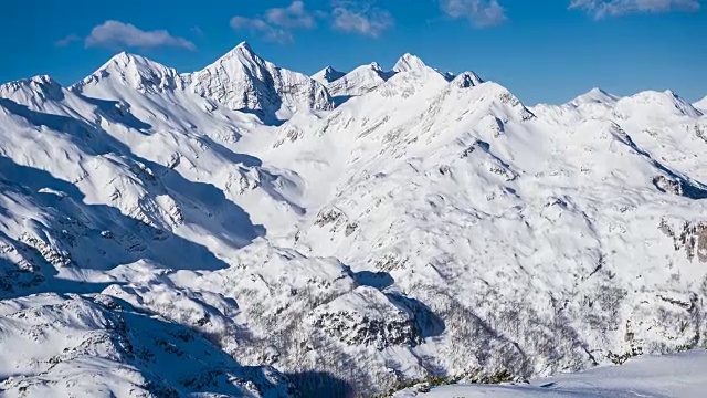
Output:
M694 12L700 6L698 0L572 0L569 8L603 19L635 13Z

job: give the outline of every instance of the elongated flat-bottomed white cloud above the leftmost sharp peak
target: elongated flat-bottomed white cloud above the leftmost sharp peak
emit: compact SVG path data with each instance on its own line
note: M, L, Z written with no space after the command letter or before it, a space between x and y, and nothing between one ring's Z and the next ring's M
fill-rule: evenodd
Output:
M119 21L106 21L95 27L84 39L86 48L159 48L176 46L196 50L197 46L187 39L172 36L166 30L143 31L133 24Z

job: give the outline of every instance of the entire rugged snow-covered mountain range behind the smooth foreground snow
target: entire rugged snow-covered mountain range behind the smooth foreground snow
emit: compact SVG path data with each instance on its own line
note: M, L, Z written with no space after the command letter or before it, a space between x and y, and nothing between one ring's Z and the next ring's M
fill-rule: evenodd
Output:
M325 87L241 44L1 85L3 392L87 363L118 376L80 395L367 396L706 346L701 111L382 71Z

